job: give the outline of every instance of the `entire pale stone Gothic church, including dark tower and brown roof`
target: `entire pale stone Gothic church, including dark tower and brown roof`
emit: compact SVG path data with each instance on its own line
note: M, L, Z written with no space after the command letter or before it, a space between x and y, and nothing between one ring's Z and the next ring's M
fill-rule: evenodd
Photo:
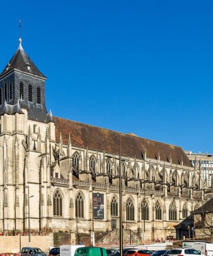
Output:
M29 207L32 231L70 232L72 243L76 231L118 229L121 137L123 228L175 236L204 200L198 167L178 146L53 117L45 81L20 39L0 75L0 231L27 231Z

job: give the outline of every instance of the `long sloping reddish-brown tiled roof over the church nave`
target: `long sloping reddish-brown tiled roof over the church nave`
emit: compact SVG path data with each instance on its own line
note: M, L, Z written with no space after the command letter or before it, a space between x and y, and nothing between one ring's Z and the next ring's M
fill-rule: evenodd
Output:
M89 124L78 123L76 121L53 117L56 125L56 142L59 142L60 132L62 133L63 143L67 143L69 133L72 145L79 148L87 148L93 151L106 152L118 155L118 137L121 136L121 155L137 159L143 159L146 148L148 158L157 159L160 152L160 160L169 162L172 156L173 164L180 164L192 167L191 162L185 152L179 146L174 146L154 140L144 139L135 135L115 132Z

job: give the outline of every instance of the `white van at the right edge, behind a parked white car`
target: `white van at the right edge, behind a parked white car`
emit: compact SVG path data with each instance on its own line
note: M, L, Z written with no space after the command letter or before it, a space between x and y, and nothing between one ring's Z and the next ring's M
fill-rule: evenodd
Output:
M212 256L213 255L213 244L206 241L183 241L183 248L193 248L201 252L202 256Z

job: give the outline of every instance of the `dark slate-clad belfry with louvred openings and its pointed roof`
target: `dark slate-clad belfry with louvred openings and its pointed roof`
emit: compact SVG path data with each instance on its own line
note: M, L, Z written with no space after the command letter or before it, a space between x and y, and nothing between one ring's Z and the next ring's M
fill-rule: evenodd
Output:
M0 75L0 115L22 113L27 109L28 119L49 122L45 104L46 76L34 65L22 48L22 40L14 56Z

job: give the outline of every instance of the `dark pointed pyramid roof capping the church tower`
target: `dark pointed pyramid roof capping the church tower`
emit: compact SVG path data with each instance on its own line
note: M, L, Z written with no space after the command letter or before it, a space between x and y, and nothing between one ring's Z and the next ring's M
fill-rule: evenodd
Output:
M30 66L30 70L27 68L27 66ZM37 69L37 67L33 63L33 60L31 60L27 53L25 53L24 49L21 46L21 39L18 50L15 52L14 56L12 56L12 59L9 60L8 65L5 67L4 71L2 71L0 76L4 75L9 71L12 71L12 69L19 69L20 71L31 73L33 75L37 75L41 78L46 79L46 76L44 76L43 73L41 73Z

